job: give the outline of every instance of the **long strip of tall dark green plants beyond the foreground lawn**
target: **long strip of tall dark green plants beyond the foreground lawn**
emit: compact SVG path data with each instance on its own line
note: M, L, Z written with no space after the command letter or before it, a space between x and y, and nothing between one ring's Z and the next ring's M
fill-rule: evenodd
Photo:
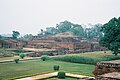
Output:
M59 61L66 61L66 62L73 62L73 63L82 63L82 64L96 64L100 61L109 61L109 60L117 60L120 59L120 56L106 56L103 58L92 58L92 57L85 57L85 56L57 56L53 57L54 60Z

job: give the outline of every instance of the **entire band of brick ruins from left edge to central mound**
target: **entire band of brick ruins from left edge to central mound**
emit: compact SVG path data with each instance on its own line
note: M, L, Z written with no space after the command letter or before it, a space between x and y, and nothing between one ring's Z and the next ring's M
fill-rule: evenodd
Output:
M47 55L51 55L51 53L53 53L53 55L61 55L105 50L105 48L99 46L99 39L86 39L84 37L76 36L71 32L60 33L55 36L32 36L28 41L20 41L13 38L1 38L0 48L3 47L18 49L23 47L38 49L47 48L52 51L32 51L32 56L33 54L34 56L40 56L43 53Z

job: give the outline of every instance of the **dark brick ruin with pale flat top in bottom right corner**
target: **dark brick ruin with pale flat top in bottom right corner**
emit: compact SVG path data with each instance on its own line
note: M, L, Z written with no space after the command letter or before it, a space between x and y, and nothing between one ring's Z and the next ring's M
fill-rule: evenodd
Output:
M96 80L120 80L120 60L98 62L93 73Z

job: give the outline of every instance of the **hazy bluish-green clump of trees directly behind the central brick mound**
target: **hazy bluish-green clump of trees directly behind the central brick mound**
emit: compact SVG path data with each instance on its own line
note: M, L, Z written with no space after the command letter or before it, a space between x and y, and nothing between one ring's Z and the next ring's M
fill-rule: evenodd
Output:
M101 24L95 24L92 28L84 28L82 25L73 24L69 21L60 22L55 27L47 27L45 31L41 31L38 35L55 35L64 32L73 32L77 36L86 38L100 38L103 36L101 30Z

